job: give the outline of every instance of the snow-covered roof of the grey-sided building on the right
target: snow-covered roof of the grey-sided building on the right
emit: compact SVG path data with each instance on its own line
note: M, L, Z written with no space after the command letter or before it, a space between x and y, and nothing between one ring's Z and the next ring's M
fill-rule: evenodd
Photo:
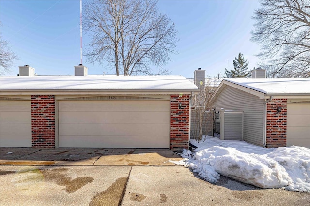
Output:
M310 95L310 78L279 78L279 79L226 78L221 82L220 87L223 84L249 88L258 92L262 92L263 94L265 94L265 96Z

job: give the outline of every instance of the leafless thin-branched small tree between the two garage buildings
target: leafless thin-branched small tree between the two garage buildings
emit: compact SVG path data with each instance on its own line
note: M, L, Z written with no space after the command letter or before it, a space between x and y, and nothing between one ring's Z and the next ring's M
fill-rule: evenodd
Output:
M191 101L191 138L202 140L203 135L212 131L212 111L214 99L211 98L217 89L217 78L208 79L205 86L200 88L200 92Z

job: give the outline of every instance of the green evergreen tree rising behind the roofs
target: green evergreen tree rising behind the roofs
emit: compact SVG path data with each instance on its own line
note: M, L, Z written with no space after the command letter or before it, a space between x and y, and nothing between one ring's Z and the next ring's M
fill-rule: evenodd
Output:
M243 54L239 53L238 58L233 60L233 70L225 69L226 77L239 78L251 76L251 71L248 71L248 60L245 60Z

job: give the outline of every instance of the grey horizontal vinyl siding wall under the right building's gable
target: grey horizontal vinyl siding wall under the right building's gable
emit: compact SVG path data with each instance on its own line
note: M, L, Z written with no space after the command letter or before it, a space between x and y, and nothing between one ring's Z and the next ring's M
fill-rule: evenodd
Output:
M216 111L244 112L243 139L248 143L263 146L263 99L226 85L214 103ZM228 135L225 133L225 136Z

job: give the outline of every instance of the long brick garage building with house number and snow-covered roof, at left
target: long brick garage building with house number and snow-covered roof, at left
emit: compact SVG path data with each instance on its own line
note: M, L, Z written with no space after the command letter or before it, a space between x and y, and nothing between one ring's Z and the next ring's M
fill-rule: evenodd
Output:
M185 77L75 74L0 76L0 100L16 102L1 107L1 147L188 149L199 89Z

